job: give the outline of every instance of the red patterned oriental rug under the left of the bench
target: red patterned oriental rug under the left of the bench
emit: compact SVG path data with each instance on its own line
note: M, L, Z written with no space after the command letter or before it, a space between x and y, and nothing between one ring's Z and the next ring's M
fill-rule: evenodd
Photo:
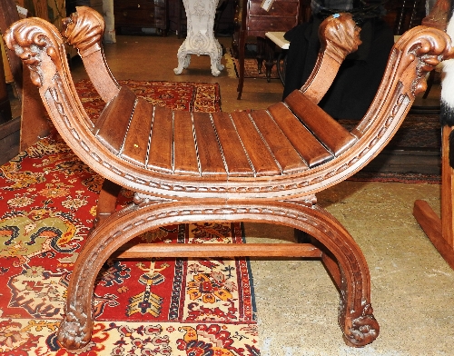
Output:
M220 110L218 84L123 82L154 104ZM103 106L76 84L86 110ZM236 260L110 260L98 275L92 341L56 341L65 293L91 228L103 179L58 137L0 167L0 354L257 356L252 275ZM119 205L131 201L123 191ZM136 238L157 243L242 243L240 223L166 226Z

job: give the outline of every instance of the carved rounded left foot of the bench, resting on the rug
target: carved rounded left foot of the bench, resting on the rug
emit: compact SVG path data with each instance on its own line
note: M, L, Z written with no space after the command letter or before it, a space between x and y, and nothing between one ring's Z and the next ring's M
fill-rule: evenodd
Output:
M57 339L68 350L84 347L92 338L92 325L82 325L79 321L68 321L67 318L60 323Z

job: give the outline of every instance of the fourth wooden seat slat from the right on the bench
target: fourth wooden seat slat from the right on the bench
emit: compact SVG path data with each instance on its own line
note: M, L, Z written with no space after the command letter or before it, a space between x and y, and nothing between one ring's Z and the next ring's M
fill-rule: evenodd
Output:
M246 112L233 112L233 124L242 140L257 176L281 174L281 167L272 156L269 147L263 142L262 135L252 123Z

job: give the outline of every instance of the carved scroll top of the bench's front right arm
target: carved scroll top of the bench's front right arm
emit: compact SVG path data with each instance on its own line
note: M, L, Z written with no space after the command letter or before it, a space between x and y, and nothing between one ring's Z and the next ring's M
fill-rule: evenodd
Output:
M402 83L405 83L406 75L416 78L410 84L410 92L413 95L424 92L427 87L426 74L443 60L454 57L454 48L449 35L445 32L426 26L411 28L394 44L394 51L398 55L404 55L399 62L397 74ZM409 72L410 71L410 72Z

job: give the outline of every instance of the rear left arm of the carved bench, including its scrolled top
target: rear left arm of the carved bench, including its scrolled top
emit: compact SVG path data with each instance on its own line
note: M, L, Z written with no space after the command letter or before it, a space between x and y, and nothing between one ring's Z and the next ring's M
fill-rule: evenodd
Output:
M77 49L94 88L107 103L120 89L104 57L104 29L102 15L91 7L77 6L76 12L64 19L62 35Z

